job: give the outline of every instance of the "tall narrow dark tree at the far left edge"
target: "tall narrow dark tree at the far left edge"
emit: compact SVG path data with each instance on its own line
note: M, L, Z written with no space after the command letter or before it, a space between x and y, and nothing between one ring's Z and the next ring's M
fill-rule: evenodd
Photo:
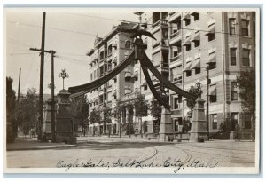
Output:
M17 135L16 93L12 89L12 78L6 77L6 141L13 142Z

